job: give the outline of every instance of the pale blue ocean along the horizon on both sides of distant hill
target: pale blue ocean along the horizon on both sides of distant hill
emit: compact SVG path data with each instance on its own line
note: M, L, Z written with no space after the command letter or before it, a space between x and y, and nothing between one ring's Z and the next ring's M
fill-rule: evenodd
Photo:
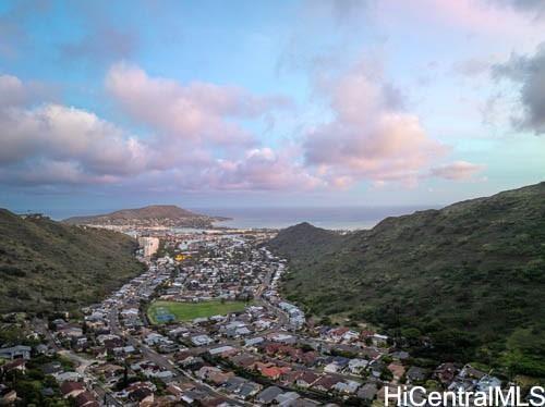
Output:
M108 213L119 208L109 209L70 209L43 210L44 214L55 220L75 215ZM429 207L331 207L331 208L187 208L192 211L232 218L216 225L226 227L268 227L283 229L301 222L330 230L371 229L387 217L409 214Z

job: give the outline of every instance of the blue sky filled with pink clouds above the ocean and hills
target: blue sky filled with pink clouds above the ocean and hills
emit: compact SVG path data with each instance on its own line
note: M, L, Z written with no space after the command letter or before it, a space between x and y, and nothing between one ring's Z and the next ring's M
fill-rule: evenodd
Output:
M435 207L542 181L545 0L0 2L0 207Z

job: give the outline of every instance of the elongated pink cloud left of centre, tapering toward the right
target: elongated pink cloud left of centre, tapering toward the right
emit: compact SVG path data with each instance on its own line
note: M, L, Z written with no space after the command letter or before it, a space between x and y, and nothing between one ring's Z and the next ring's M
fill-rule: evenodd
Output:
M231 119L255 119L289 106L281 97L258 97L235 86L150 77L142 69L118 63L106 87L134 121L192 143L252 144L252 135Z

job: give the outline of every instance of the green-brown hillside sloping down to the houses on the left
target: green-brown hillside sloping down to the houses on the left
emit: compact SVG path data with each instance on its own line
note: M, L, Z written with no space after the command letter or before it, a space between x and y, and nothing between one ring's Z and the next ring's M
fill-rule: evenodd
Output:
M0 209L0 312L73 309L143 272L136 242Z

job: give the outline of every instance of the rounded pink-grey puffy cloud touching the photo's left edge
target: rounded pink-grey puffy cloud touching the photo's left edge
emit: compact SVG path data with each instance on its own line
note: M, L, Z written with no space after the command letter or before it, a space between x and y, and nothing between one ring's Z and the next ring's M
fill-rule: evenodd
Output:
M35 157L77 160L89 172L131 174L146 168L143 145L94 113L45 104L0 112L5 132L0 162L16 163Z

